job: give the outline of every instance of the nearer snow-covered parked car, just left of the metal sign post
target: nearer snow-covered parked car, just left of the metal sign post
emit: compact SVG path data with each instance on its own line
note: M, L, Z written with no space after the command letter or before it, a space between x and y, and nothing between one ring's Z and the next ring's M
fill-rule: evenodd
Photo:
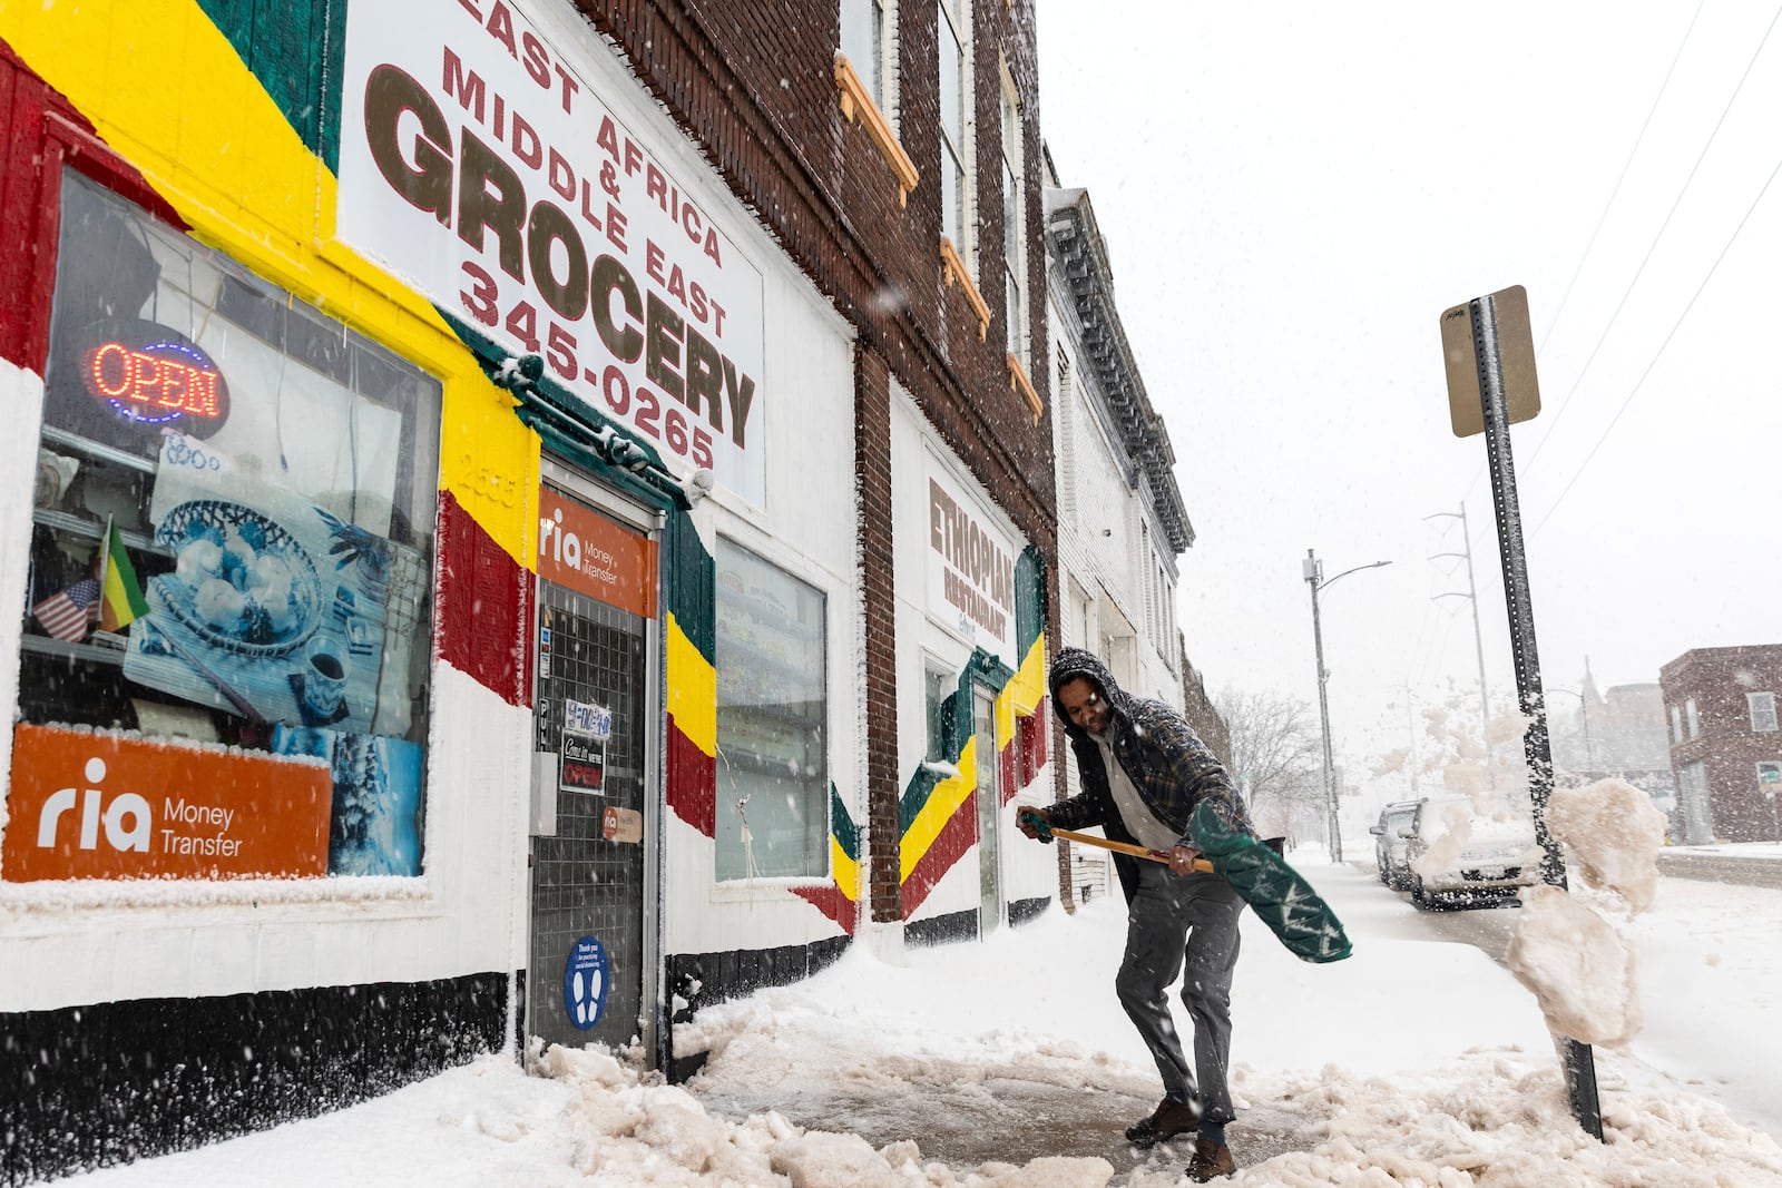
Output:
M1411 903L1426 908L1513 899L1541 878L1527 810L1486 814L1470 800L1420 800L1404 857Z

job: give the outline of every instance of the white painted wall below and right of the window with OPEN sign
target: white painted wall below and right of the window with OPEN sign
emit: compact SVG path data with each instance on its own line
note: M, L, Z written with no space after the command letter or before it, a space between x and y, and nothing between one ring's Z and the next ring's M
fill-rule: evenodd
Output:
M527 711L435 666L421 878L0 883L0 1012L524 967L529 745Z

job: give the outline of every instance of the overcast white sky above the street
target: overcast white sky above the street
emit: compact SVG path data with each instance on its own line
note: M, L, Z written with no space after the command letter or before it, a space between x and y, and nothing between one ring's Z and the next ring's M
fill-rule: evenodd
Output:
M1458 520L1422 518L1465 500L1513 696L1484 438L1452 435L1436 322L1509 285L1540 347L1511 440L1547 686L1577 689L1586 655L1606 688L1782 639L1775 4L1107 12L1041 0L1041 125L1169 424L1198 533L1180 618L1214 689L1315 707L1317 549L1326 577L1394 561L1320 597L1338 762L1410 743L1406 688L1475 700L1468 602L1436 598L1465 566L1426 559L1463 549Z

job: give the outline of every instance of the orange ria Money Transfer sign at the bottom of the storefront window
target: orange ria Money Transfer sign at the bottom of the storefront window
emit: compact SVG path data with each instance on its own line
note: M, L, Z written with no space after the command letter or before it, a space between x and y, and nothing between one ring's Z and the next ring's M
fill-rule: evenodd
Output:
M0 880L317 878L326 764L21 725Z

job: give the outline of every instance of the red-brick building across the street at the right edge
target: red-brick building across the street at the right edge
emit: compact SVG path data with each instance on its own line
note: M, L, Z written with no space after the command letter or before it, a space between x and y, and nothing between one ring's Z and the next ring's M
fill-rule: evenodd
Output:
M1782 645L1695 648L1659 670L1682 841L1775 841Z

